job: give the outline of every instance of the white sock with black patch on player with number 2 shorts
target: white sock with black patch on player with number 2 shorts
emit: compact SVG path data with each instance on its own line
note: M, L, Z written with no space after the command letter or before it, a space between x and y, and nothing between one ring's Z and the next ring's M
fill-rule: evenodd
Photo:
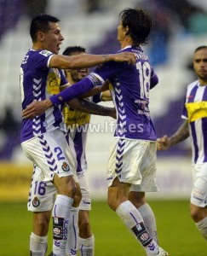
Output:
M57 195L53 207L53 253L66 256L66 241L73 199L66 195Z

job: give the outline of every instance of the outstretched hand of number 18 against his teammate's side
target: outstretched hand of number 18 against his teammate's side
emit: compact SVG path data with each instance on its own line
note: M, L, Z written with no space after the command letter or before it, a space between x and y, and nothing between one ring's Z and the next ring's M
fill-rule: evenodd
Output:
M44 113L51 106L52 102L50 102L49 99L40 102L34 101L26 106L26 109L22 111L22 117L26 119L33 119Z

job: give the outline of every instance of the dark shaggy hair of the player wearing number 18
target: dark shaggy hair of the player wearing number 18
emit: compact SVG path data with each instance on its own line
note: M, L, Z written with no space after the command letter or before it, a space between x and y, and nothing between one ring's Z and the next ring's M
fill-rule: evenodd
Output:
M146 9L126 8L119 14L124 28L129 26L128 35L132 38L135 46L145 45L149 40L149 33L152 28L152 20L149 11Z

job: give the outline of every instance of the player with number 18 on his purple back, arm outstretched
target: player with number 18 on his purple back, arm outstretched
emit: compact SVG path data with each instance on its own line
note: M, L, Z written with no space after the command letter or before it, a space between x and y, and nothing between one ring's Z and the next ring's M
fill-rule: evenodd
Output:
M112 63L101 65L78 84L43 102L33 102L22 115L44 113L73 97L102 85L106 79L117 110L114 134L107 165L108 204L141 243L147 255L169 255L158 246L156 221L147 204L145 192L158 191L156 184L156 134L149 112L149 90L158 84L141 45L147 44L152 20L145 9L124 9L118 25L119 52L135 53L135 65Z

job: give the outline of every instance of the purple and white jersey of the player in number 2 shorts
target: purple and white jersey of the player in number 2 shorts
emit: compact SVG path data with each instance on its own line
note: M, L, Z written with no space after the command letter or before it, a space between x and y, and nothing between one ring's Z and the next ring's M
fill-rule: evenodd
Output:
M43 101L60 92L60 86L68 84L62 70L49 68L52 52L30 49L20 66L20 92L22 109L33 101ZM20 142L60 128L66 131L62 106L46 110L34 119L23 119Z

